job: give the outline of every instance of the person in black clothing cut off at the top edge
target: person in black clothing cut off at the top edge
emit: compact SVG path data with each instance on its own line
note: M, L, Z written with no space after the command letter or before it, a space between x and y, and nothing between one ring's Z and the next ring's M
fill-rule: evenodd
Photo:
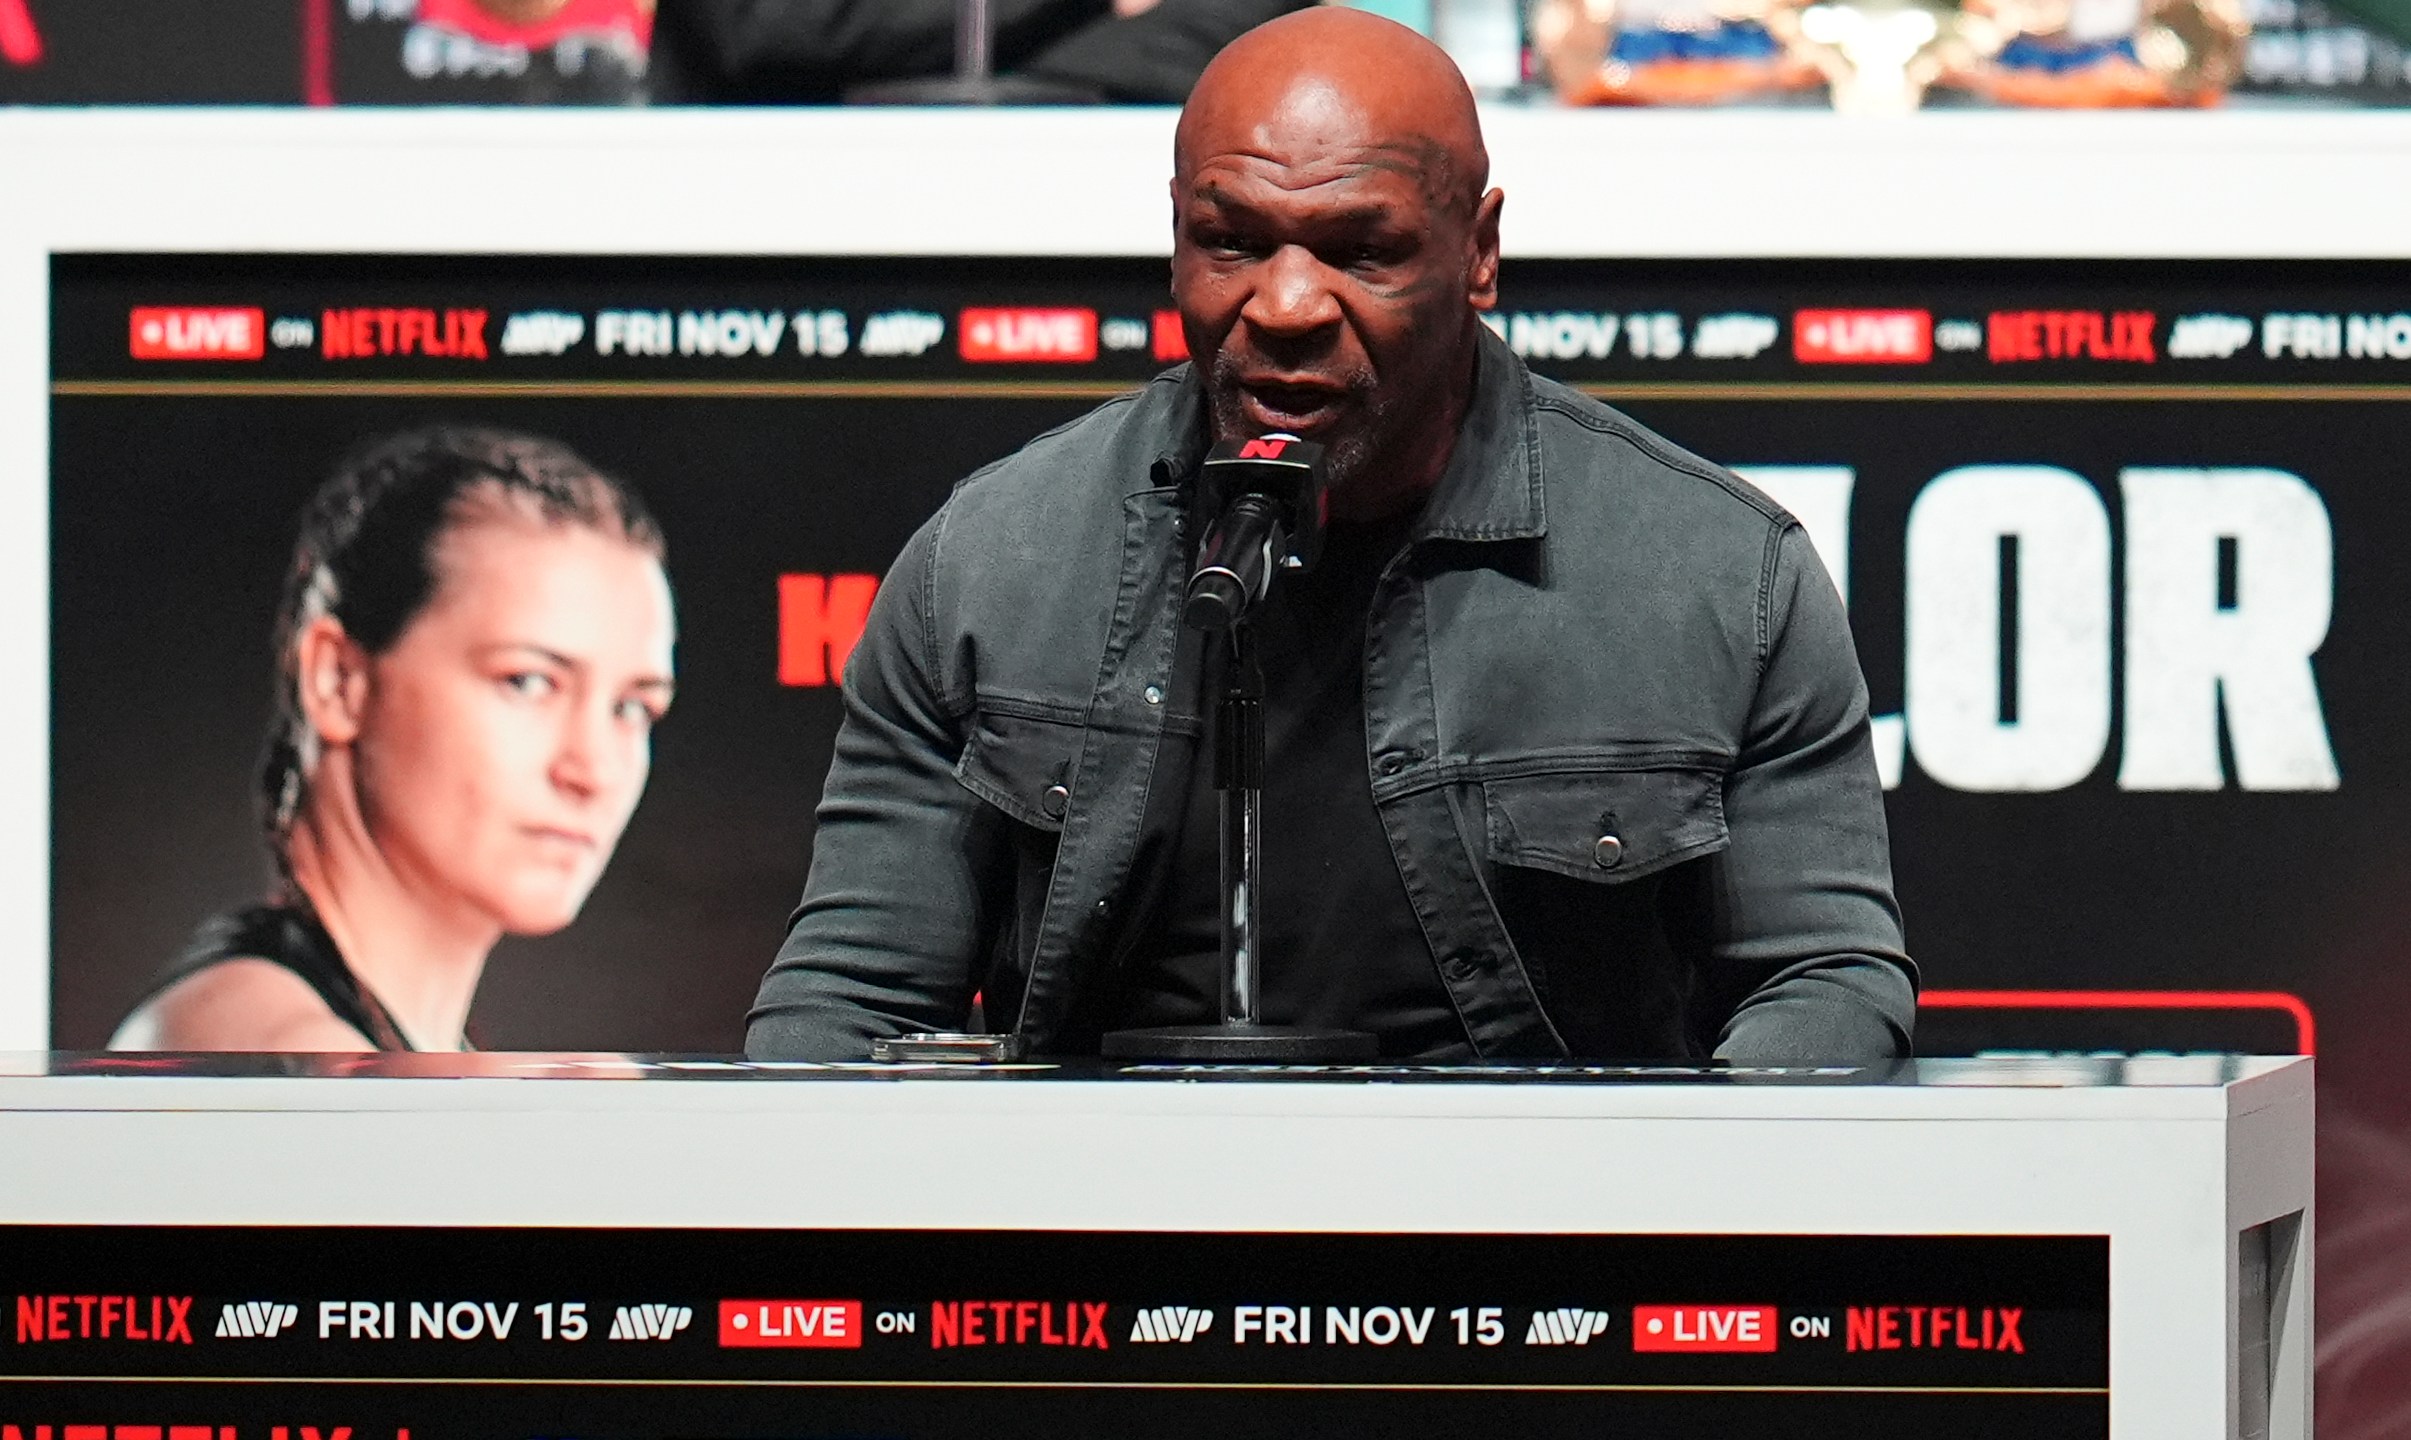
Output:
M1312 0L991 0L993 68L1056 99L1181 104L1206 63ZM955 72L957 0L663 0L653 99L820 104Z

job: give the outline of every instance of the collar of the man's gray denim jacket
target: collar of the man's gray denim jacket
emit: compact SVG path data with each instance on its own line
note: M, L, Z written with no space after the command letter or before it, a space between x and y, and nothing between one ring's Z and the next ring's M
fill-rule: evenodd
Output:
M1155 379L1165 396L1169 444L1148 482L1189 485L1206 463L1206 391L1193 364ZM1473 352L1473 398L1456 429L1449 466L1415 523L1418 540L1536 540L1548 533L1541 497L1541 432L1533 422L1531 371L1490 326Z

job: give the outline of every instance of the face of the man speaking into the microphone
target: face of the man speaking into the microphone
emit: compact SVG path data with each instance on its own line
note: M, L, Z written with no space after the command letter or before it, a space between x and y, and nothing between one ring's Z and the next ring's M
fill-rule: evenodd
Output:
M1172 181L1172 297L1215 439L1319 441L1336 497L1415 482L1408 451L1454 434L1468 302L1495 299L1495 200L1437 145L1369 140L1336 96L1198 130Z

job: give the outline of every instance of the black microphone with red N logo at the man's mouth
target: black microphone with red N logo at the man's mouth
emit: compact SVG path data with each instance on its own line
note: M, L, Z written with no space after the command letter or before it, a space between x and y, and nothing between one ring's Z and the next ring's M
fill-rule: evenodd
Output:
M1215 521L1198 545L1181 622L1230 630L1273 589L1275 572L1321 557L1331 507L1324 446L1295 434L1225 439L1198 473L1198 502Z

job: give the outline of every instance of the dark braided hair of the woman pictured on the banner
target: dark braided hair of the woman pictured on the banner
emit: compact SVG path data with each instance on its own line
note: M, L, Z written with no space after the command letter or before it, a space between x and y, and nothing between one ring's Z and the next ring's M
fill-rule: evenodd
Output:
M352 449L301 509L277 603L277 683L258 801L284 890L292 890L292 825L318 767L318 736L301 712L301 632L323 615L371 656L388 651L434 598L436 545L497 502L663 557L661 526L644 499L559 441L429 425Z

